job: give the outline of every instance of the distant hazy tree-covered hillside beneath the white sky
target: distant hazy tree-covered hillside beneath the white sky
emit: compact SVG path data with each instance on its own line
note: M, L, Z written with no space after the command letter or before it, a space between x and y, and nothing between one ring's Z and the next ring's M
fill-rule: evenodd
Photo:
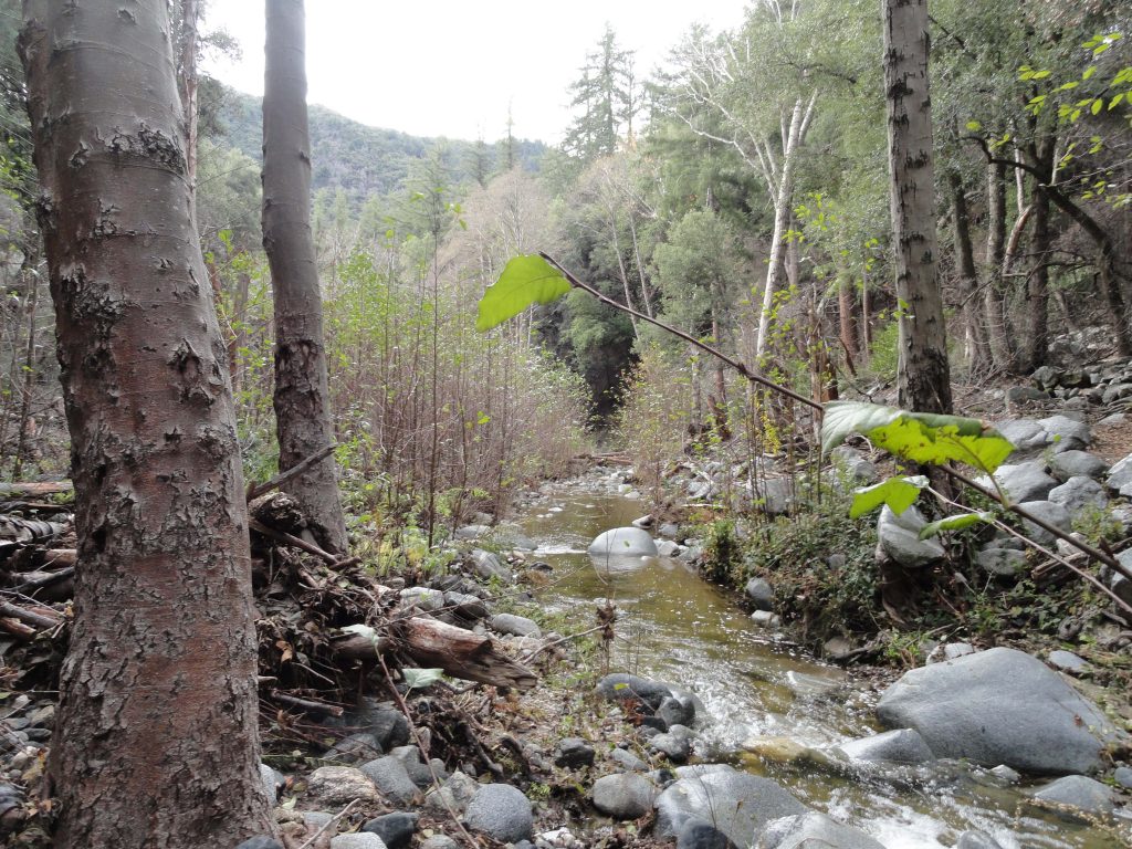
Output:
M214 120L229 145L257 162L263 146L263 102L254 95L221 86L214 89ZM547 146L514 139L515 163L537 171ZM397 130L367 127L324 106L310 106L310 145L314 189L344 189L351 201L401 188L410 163L440 146L454 182L473 182L499 171L506 140L487 144L463 139L423 138Z

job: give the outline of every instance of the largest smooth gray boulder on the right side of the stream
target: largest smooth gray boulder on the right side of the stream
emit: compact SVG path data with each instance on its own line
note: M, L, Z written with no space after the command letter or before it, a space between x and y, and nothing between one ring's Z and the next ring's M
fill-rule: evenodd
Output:
M936 757L1036 773L1092 772L1117 731L1037 658L990 649L906 672L876 706L890 728L915 728Z

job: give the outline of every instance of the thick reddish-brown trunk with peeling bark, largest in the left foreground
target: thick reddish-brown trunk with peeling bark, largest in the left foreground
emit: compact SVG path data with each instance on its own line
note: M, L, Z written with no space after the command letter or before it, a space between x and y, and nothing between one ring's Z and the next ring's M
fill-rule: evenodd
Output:
M231 847L259 779L243 480L164 0L27 0L78 557L55 844Z

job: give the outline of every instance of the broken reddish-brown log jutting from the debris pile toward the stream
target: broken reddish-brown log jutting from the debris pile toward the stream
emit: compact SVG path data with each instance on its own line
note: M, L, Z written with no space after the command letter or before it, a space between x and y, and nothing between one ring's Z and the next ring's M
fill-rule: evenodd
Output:
M539 683L534 672L497 651L490 637L439 619L411 616L391 623L391 631L396 638L379 636L377 645L358 634L336 640L334 654L344 660L377 660L379 651L396 648L422 667L437 667L454 678L515 689L530 689Z

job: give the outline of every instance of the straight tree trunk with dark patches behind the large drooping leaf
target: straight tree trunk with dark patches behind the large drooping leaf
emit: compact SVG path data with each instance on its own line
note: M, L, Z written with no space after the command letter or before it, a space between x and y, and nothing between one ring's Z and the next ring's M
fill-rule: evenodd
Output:
M900 303L897 391L906 409L950 412L946 326L936 278L927 2L883 0L883 10L892 233Z

